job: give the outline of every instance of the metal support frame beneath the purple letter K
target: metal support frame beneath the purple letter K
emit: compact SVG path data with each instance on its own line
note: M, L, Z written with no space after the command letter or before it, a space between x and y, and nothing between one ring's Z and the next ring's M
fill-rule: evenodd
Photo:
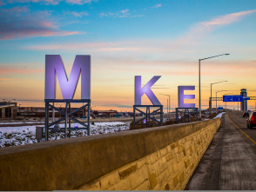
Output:
M146 112L138 108L145 108ZM155 109L151 112L151 108L158 108L158 109ZM138 121L135 120L136 111L144 115L144 117L142 117ZM160 121L158 121L156 118L153 118L152 116L152 115L156 115L158 111L160 111ZM145 123L143 122L144 120L145 120ZM157 123L155 124L154 122L157 122ZM133 128L134 129L136 125L145 125L146 128L149 128L151 125L153 125L153 127L155 125L163 125L163 105L133 105Z

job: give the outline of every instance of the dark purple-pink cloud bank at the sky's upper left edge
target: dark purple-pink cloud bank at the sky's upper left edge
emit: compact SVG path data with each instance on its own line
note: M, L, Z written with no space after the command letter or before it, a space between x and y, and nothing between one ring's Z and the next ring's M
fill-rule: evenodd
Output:
M47 19L47 12L31 13L25 6L9 10L1 9L0 40L28 38L33 36L69 36L77 31L60 30L56 23Z

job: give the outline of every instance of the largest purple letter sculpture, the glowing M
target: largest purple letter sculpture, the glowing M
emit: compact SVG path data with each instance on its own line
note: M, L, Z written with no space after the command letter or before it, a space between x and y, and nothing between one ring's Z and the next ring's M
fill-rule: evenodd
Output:
M68 79L59 55L45 56L45 99L56 99L58 80L64 99L73 99L81 74L81 99L91 99L91 56L76 56ZM57 76L57 79L56 79Z

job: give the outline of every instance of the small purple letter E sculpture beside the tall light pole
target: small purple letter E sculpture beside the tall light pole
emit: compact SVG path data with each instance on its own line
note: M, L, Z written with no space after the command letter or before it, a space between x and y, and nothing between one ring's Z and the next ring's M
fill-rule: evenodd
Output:
M195 95L184 95L184 90L194 90L195 86L178 86L179 108L195 108L194 103L184 103L185 99L194 99Z

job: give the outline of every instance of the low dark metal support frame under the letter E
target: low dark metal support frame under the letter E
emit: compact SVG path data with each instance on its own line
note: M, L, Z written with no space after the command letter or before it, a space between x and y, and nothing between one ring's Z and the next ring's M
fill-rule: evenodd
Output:
M190 122L191 116L194 113L196 115L197 121L199 120L199 108L175 108L175 109L176 109L176 122ZM181 116L180 120L179 120L179 116Z

